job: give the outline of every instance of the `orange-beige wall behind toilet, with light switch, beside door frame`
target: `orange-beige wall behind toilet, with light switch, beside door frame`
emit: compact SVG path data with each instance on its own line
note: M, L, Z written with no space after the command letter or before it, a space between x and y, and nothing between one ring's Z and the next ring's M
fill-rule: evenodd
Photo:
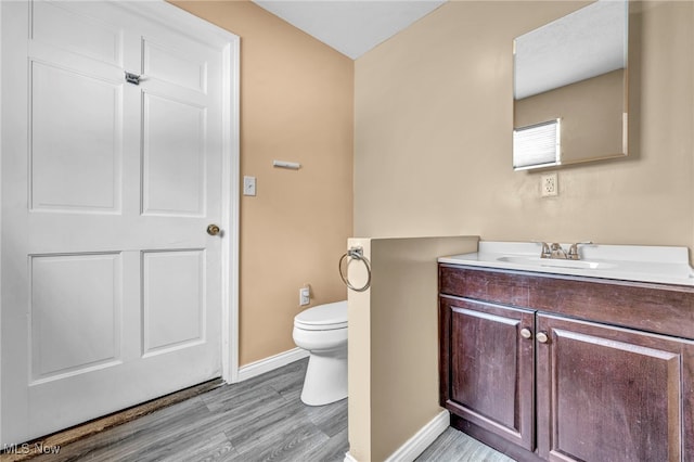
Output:
M345 299L352 232L354 62L248 1L172 1L241 37L240 363L295 347L298 290ZM298 162L298 171L273 159Z

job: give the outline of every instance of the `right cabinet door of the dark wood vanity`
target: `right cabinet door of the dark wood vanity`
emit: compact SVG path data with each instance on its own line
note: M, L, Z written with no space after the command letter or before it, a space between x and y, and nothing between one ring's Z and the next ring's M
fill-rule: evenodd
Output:
M548 337L538 344L542 458L693 459L693 342L551 316L537 323Z

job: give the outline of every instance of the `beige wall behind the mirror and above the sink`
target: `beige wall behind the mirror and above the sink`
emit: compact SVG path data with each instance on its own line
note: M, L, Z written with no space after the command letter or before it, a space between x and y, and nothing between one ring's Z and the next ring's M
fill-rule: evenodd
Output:
M512 39L575 7L452 1L356 61L356 235L692 247L693 2L631 17L629 158L512 170Z

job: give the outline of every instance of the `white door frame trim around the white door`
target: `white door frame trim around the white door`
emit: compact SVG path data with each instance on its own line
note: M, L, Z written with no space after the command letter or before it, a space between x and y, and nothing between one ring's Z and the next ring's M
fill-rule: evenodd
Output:
M123 1L117 2L117 4L189 35L194 40L223 48L222 210L220 226L227 232L223 234L224 239L222 239L221 243L221 367L222 380L227 383L235 383L239 382L240 38L164 0ZM1 24L2 9L0 9L0 28ZM2 43L2 47L7 46L9 44ZM1 66L2 49L0 48L0 70ZM2 73L0 72L0 104L3 99L1 76ZM2 119L0 117L0 158L2 158ZM0 227L0 242L2 242L2 238ZM0 294L2 290L3 287L0 285ZM2 306L0 306L1 309ZM0 409L1 407L2 389L0 388ZM0 440L2 440L3 425L5 423L0 420Z

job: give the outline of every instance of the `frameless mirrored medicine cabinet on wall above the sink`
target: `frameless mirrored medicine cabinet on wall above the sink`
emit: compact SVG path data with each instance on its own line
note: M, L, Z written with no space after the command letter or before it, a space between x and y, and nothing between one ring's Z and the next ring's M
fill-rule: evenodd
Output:
M627 155L628 18L599 0L514 40L514 169Z

